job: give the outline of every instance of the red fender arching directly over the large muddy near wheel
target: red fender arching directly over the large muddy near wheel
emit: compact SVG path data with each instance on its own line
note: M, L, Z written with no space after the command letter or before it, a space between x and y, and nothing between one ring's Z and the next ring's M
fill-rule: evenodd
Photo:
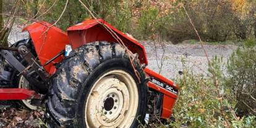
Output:
M112 41L117 42L115 38L106 30L106 27L111 28L119 38L124 42L124 45L132 51L132 53L138 53L139 59L142 64L148 64L147 55L144 47L136 40L130 38L124 33L120 32L105 20L85 20L82 23L78 23L67 29L70 43L72 48L78 48L79 46L85 45L93 41Z

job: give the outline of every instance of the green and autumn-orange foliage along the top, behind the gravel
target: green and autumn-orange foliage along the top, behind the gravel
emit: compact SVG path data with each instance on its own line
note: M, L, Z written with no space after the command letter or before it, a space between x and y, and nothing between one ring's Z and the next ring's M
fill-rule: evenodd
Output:
M56 2L56 4L54 4ZM139 40L161 38L179 43L197 40L181 3L186 7L204 41L246 40L256 37L256 1L254 0L83 0L96 17L105 19L122 32ZM11 10L15 1L4 1L4 12ZM32 18L45 13L39 20L55 22L66 1L23 1L19 15ZM37 13L38 12L38 13ZM63 30L91 16L80 5L70 0L58 26Z

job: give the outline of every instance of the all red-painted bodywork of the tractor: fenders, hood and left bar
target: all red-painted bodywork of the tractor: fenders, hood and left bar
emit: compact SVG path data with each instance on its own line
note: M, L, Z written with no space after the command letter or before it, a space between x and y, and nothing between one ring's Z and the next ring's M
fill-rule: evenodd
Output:
M119 42L117 40L120 39L132 53L139 54L141 64L148 65L145 48L138 41L130 38L101 19L85 20L69 27L67 32L62 32L62 30L47 22L34 22L23 28L23 31L28 31L30 34L39 62L49 75L55 74L55 65L63 61L63 55L54 57L61 53L61 51L64 51L66 45L71 45L72 49L76 49L95 41ZM114 38L115 36L118 36L118 38ZM50 60L51 62L49 62ZM144 69L144 72L149 79L148 87L163 95L161 117L169 119L174 103L177 100L178 86L173 81L166 79L147 67ZM25 89L0 89L0 96L0 100L38 98L35 92Z

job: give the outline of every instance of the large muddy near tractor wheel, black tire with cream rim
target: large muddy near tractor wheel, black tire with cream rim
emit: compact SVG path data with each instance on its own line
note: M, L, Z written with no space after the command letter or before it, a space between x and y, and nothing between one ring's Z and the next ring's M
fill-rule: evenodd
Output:
M137 127L147 110L139 60L117 43L81 46L51 80L48 112L64 127Z

